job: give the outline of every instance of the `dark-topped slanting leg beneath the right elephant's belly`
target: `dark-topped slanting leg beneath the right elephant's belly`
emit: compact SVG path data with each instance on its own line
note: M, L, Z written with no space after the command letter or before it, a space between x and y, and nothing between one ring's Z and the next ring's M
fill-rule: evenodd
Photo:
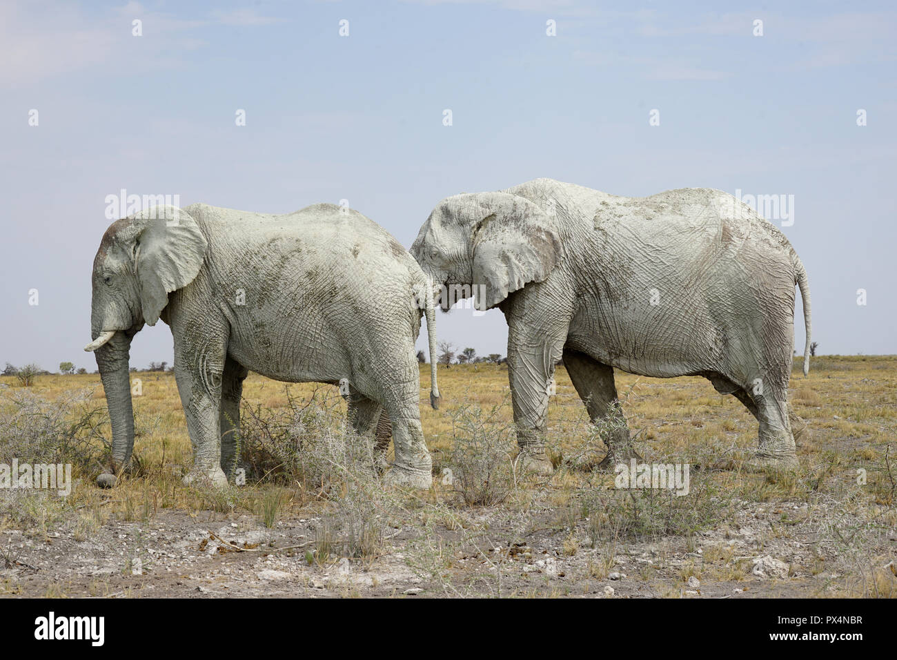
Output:
M602 467L613 467L638 454L632 448L629 427L620 408L614 383L614 368L579 351L563 349L563 364L579 398L588 410L588 418L601 429L607 445Z

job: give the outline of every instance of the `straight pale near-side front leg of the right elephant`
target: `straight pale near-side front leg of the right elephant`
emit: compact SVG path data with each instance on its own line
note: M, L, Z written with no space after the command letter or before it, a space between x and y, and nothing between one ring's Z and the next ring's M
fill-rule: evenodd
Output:
M508 379L514 426L520 459L529 470L551 474L552 462L545 453L545 418L554 375L554 365L561 356L563 339L527 337L509 324Z

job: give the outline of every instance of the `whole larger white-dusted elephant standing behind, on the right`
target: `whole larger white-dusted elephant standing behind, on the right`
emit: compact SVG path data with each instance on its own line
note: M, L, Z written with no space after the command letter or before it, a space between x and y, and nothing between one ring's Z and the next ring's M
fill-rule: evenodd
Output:
M614 422L605 466L635 455L614 367L705 376L757 418L753 466L797 464L787 392L796 283L809 366L806 271L779 229L731 195L623 198L537 179L443 199L411 252L435 285L472 285L478 308L504 313L518 444L539 471L551 469L546 384L561 357L589 417Z

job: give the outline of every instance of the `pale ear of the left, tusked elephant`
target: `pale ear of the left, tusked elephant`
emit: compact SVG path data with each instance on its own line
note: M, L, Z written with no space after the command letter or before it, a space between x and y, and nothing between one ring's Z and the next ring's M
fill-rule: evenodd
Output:
M131 249L140 286L144 321L155 325L168 295L193 281L203 265L208 242L186 211L152 207L132 216Z

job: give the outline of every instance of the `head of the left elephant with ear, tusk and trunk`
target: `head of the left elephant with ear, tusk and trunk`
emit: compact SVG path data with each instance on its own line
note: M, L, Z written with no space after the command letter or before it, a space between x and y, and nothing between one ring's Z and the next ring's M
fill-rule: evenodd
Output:
M169 294L203 265L207 243L196 221L176 207L152 207L109 226L93 260L91 337L112 423L112 470L134 447L128 356L131 339L155 325Z

